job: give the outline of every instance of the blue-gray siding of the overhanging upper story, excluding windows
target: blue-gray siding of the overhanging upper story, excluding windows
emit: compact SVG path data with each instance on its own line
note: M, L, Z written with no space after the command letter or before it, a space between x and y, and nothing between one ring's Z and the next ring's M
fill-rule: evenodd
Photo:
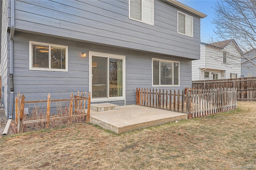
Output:
M128 18L129 1L16 0L17 30L199 59L200 18L154 1L154 26ZM194 18L194 37L177 33L177 10Z

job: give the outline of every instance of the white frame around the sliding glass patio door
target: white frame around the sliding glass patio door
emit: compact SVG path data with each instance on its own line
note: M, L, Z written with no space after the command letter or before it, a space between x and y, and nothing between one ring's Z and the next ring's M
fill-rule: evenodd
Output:
M92 102L101 102L101 101L125 101L125 92L126 92L126 85L125 85L125 55L117 55L117 54L110 54L110 53L100 53L100 52L95 52L95 51L89 51L89 91L92 91L92 56L97 56L97 57L106 57L108 58L108 64L107 64L107 70L109 71L109 58L115 58L115 59L122 59L123 60L123 91L122 94L123 96L121 97L109 97L109 84L107 85L107 96L106 98L91 98ZM107 81L109 83L109 72L107 74Z

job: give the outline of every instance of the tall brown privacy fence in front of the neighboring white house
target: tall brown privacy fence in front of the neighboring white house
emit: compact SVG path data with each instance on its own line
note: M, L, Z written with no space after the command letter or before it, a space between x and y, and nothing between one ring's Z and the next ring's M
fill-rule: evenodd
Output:
M237 88L238 101L256 101L256 77L192 81L194 89Z

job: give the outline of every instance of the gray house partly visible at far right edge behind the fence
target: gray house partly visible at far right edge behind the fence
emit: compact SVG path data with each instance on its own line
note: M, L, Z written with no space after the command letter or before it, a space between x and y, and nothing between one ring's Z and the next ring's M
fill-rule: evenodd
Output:
M256 77L256 49L244 53L241 61L242 77Z

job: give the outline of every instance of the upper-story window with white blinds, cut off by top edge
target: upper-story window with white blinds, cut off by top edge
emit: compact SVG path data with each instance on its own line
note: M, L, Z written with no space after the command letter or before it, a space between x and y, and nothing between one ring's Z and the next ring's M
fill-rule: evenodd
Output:
M154 0L129 0L129 18L154 25Z

